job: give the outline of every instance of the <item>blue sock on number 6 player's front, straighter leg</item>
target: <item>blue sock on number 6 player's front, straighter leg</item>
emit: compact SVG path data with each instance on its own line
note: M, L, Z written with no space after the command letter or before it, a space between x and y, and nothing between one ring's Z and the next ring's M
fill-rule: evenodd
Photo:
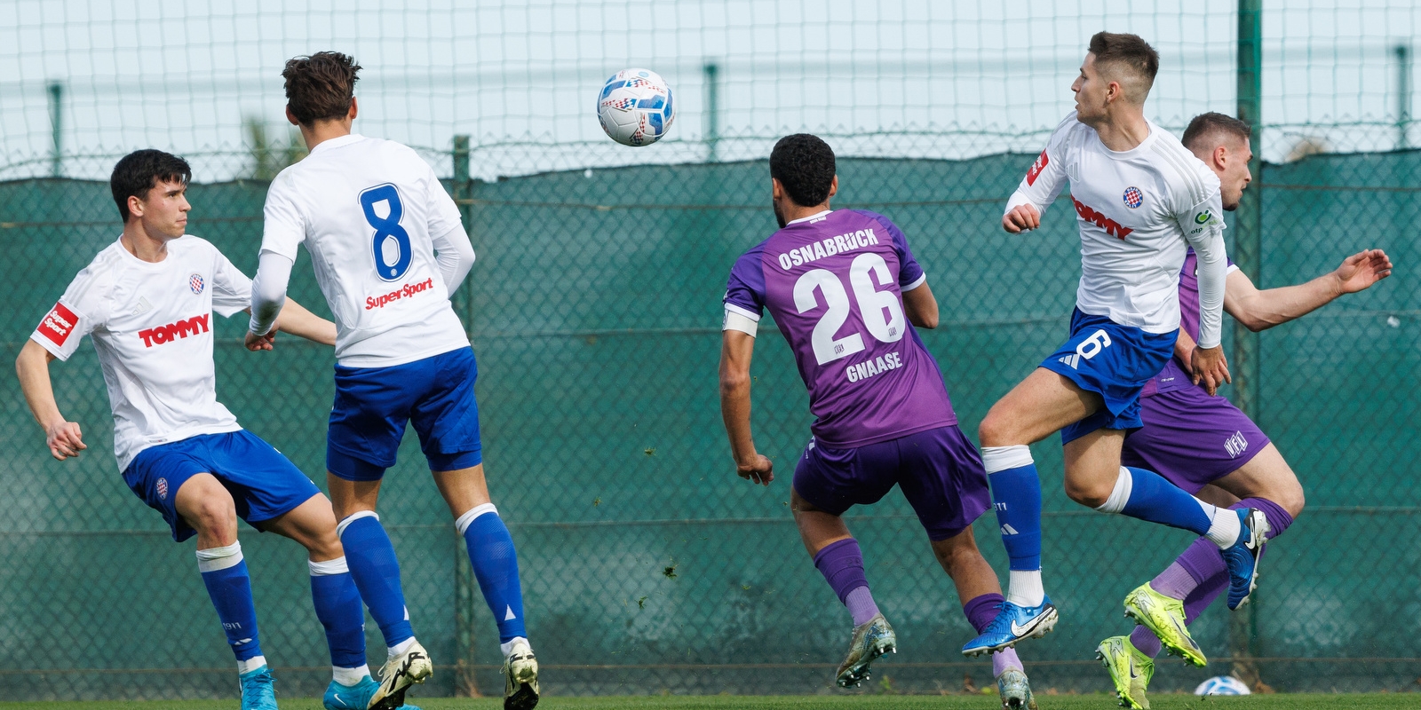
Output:
M1042 568L1042 480L1026 446L982 449L982 463L992 483L996 524L1012 569Z

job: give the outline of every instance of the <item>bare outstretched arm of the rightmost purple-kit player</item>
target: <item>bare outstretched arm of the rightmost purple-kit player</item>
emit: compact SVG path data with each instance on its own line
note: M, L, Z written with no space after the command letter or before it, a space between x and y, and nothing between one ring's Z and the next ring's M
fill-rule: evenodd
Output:
M1258 332L1300 318L1339 295L1364 291L1388 275L1391 258L1380 248L1358 251L1312 281L1279 288L1259 290L1246 274L1233 271L1223 294L1223 308Z

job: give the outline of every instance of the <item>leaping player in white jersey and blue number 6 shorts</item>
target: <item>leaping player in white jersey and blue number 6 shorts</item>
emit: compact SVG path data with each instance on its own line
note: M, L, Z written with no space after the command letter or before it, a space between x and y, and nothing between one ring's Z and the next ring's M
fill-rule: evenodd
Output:
M1120 464L1125 433L1141 426L1140 392L1174 351L1179 268L1191 246L1199 278L1195 371L1208 386L1228 378L1219 344L1228 268L1219 179L1145 119L1158 68L1158 54L1137 36L1091 37L1071 84L1076 111L1052 133L1002 217L1009 233L1036 229L1069 180L1081 278L1070 338L998 400L978 430L1012 579L1002 613L963 646L965 655L1007 648L1056 623L1042 585L1042 490L1027 444L1057 430L1071 500L1208 537L1228 559L1231 608L1253 584L1268 532L1262 511L1218 508L1154 471Z

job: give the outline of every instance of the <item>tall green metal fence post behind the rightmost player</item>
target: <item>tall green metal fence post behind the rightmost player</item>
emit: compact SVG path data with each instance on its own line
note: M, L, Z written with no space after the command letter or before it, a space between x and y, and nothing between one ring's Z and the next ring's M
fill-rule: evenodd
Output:
M1243 190L1239 209L1233 222L1233 263L1238 264L1255 284L1260 284L1259 277L1263 261L1262 227L1263 200L1262 192L1263 162L1259 153L1263 151L1262 142L1262 94L1263 94L1263 9L1262 0L1239 0L1239 36L1238 36L1238 99L1239 118L1252 126L1250 143L1253 159L1249 160L1249 170L1253 175L1255 187ZM1259 419L1259 338L1242 322L1233 321L1233 358L1229 369L1233 375L1233 400L1239 409L1255 420ZM1258 687L1260 683L1258 663L1253 662L1255 645L1258 640L1258 625L1255 611L1258 596L1250 605L1233 612L1229 622L1229 652L1233 656L1233 676Z

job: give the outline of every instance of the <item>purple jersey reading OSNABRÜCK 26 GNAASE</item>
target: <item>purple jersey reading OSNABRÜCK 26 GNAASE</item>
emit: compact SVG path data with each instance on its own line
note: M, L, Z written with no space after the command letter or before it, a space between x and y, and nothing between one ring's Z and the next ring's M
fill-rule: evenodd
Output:
M755 320L770 310L809 388L814 440L851 449L958 422L902 308L925 278L888 217L834 210L737 258L725 304Z

